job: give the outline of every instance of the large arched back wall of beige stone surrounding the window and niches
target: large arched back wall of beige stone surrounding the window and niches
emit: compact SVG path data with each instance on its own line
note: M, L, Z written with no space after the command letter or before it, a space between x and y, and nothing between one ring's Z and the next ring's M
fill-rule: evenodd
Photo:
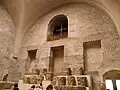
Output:
M68 38L47 42L49 21L59 14L68 17ZM19 59L25 61L27 50L38 49L37 62L35 62L37 67L49 68L50 48L64 45L65 66L71 67L73 70L76 67L78 70L85 64L84 42L100 40L103 60L99 61L98 70L95 71L97 73L87 72L93 77L93 90L99 90L98 85L104 72L111 69L120 70L120 42L116 31L109 15L97 6L85 3L67 4L45 14L29 30L24 37ZM21 72L25 72L24 68L21 69Z

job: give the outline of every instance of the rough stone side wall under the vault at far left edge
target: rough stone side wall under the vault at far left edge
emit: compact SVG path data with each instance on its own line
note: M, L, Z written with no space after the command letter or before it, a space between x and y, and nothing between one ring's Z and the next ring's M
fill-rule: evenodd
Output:
M15 28L11 17L0 5L0 80L9 72L10 56L13 53Z

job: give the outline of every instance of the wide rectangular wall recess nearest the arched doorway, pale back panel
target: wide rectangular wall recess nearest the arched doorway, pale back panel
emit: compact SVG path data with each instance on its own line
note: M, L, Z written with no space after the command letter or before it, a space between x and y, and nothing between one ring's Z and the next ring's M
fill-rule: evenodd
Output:
M101 41L90 41L83 43L85 71L98 71L103 60Z

